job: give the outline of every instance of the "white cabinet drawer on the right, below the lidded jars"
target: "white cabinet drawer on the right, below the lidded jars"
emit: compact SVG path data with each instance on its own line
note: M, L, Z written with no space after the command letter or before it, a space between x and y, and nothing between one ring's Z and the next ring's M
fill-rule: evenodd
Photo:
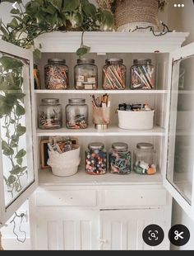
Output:
M104 191L105 206L163 206L166 204L164 189L113 189Z

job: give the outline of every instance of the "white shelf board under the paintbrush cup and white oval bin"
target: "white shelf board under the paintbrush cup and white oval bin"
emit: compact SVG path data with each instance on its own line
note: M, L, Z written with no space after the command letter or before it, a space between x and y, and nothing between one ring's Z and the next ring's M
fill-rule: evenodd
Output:
M89 127L83 130L73 130L67 128L61 128L57 130L36 130L36 135L41 136L163 136L164 128L155 126L151 130L124 130L118 128L118 126L110 126L107 130L96 130L94 127Z

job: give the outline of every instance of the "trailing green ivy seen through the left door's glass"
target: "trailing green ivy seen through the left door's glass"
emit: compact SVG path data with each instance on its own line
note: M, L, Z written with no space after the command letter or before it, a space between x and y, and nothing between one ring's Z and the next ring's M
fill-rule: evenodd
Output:
M26 151L19 145L20 138L25 135L22 118L25 115L24 97L22 90L23 62L7 55L0 57L0 119L2 130L2 154L7 157L9 164L4 174L4 180L11 192L22 190L21 178L26 174L27 167L23 165ZM7 175L8 173L8 175Z

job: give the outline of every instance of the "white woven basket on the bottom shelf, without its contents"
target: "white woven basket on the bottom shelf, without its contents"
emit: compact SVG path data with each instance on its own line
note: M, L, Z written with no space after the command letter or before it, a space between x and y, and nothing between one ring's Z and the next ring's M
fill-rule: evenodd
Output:
M47 164L52 168L53 175L71 176L78 171L80 164L80 146L73 145L72 150L59 154L48 150Z

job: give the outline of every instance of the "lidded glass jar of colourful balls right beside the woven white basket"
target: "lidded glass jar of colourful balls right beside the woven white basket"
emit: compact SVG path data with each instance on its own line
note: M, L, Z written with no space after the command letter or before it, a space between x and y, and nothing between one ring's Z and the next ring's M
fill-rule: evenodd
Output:
M107 171L107 154L104 144L92 142L85 150L85 173L104 174Z

